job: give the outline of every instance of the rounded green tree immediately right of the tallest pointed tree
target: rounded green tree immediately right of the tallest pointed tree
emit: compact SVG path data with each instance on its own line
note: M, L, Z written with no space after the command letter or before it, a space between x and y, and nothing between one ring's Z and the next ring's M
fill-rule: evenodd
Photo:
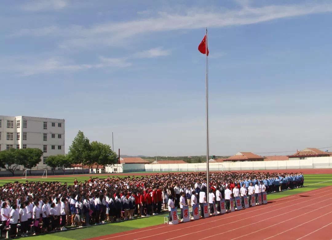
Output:
M106 166L117 163L118 156L112 151L110 145L93 141L91 142L91 160L97 165L97 168L103 166L105 170Z

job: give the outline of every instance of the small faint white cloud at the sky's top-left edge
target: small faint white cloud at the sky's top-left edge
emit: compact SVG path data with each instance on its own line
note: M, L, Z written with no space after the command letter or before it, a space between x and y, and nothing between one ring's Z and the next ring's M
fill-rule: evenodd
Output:
M29 12L59 10L68 6L66 0L35 0L25 3L21 6L21 9Z

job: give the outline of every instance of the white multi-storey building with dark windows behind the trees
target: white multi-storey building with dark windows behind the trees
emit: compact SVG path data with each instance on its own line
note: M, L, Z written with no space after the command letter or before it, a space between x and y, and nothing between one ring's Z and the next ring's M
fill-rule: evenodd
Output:
M64 154L64 124L64 119L0 116L0 150L40 148L43 157L36 168L46 168L47 156Z

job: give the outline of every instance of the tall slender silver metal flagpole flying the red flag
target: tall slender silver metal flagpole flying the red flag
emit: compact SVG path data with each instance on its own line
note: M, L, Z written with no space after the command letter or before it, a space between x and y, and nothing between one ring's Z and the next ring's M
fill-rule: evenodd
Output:
M205 58L206 58L206 74L205 74L205 85L206 85L206 132L207 132L207 203L208 203L208 194L209 194L209 152L208 152L208 71L207 71L207 28L206 31L206 44L205 44Z

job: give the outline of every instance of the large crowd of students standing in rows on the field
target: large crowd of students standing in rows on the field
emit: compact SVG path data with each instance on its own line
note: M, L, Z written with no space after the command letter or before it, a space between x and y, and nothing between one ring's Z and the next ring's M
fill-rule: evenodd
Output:
M9 237L16 237L17 232L24 237L30 233L66 230L67 226L99 225L105 221L157 215L162 208L181 208L195 201L203 204L207 187L211 189L209 198L216 202L225 199L229 209L230 194L243 196L301 187L304 178L302 173L229 171L211 172L209 180L210 186L207 186L206 173L198 172L90 177L84 182L75 179L72 185L66 182L7 183L0 187L0 230L2 235L8 231Z

